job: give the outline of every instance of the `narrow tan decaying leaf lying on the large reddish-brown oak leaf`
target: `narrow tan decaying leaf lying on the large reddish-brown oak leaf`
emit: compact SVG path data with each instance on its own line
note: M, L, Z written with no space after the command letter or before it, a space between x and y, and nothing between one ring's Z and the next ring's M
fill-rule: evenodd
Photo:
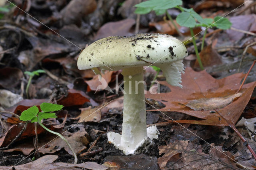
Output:
M221 109L229 105L230 103L232 103L233 100L237 99L241 95L242 93L235 93L234 95L229 95L226 97L214 97L210 99L201 98L189 101L186 106L190 107L195 111L211 111L215 109Z

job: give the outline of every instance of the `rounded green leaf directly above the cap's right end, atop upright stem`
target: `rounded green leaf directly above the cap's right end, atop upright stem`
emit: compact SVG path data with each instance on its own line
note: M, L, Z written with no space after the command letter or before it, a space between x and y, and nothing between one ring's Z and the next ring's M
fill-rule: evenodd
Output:
M190 12L181 12L177 16L176 22L180 26L185 26L185 27L190 27L190 28L194 28L196 26L196 21Z

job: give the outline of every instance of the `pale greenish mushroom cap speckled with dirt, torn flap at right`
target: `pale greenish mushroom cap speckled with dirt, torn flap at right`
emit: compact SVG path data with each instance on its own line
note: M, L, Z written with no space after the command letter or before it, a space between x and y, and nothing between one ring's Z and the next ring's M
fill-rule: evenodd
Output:
M184 70L182 59L187 55L185 45L167 34L113 36L102 38L86 47L79 55L77 65L81 70L95 67L120 70L128 67L155 65L162 69L168 83L180 85L181 81L178 77ZM171 72L177 72L175 73L177 80L175 77L172 78L173 73L171 77L167 75L170 74L169 67L174 67Z

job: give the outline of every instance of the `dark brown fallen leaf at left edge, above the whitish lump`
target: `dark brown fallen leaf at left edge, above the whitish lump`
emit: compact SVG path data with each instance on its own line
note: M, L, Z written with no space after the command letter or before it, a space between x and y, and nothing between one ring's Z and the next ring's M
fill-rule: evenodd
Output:
M18 68L4 67L0 69L0 87L12 89L20 83L23 73Z

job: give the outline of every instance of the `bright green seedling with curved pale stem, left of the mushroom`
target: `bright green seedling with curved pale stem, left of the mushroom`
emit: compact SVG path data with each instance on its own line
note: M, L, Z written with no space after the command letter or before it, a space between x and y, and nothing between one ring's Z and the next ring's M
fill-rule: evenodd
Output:
M56 118L57 116L55 115L55 113L52 113L52 112L59 111L62 108L63 108L63 105L56 105L56 104L52 104L52 103L42 103L40 105L41 112L39 112L38 107L32 106L21 113L20 120L21 121L30 121L31 123L37 122L42 128L44 128L48 132L51 132L52 134L56 134L57 136L62 138L62 140L64 140L66 142L66 144L68 145L68 147L72 150L72 152L74 154L74 158L75 158L75 164L76 164L77 156L76 156L76 153L74 152L74 149L72 148L72 146L68 143L68 140L66 140L66 138L64 138L60 133L54 132L54 131L48 129L41 123L42 119Z

